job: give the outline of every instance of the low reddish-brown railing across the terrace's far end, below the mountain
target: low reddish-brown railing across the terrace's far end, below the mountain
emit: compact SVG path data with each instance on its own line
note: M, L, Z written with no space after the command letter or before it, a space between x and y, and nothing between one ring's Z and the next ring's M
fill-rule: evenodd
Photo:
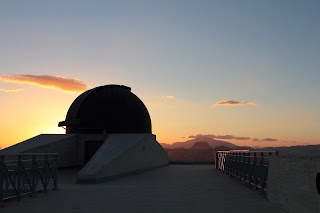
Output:
M213 164L213 150L166 150L169 163Z

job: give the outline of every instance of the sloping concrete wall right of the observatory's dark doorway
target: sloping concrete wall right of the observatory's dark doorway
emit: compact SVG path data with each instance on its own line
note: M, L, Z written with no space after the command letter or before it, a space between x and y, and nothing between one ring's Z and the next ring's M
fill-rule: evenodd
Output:
M111 134L78 174L79 182L100 182L168 164L152 134Z

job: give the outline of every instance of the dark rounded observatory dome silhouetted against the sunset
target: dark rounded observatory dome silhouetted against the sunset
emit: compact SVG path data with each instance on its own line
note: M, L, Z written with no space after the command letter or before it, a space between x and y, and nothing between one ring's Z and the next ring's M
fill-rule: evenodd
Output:
M79 95L71 104L66 133L151 133L151 120L143 102L123 85L105 85Z

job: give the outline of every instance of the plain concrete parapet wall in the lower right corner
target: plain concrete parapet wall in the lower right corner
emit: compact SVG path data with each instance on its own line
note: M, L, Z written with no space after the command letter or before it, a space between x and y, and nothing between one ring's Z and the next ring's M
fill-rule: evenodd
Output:
M320 212L318 172L320 158L270 158L267 198L292 213Z

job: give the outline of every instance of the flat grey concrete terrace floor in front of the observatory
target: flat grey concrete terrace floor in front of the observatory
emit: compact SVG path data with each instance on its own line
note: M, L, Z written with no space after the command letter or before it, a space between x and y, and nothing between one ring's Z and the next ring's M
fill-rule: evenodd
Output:
M8 201L15 212L285 212L213 165L169 165L99 184L75 184L76 170L62 170L59 189Z

